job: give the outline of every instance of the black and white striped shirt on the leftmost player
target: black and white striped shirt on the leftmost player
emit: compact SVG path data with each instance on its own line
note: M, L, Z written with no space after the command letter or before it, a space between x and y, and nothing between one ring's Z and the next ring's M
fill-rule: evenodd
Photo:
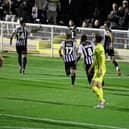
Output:
M26 27L17 27L14 31L16 35L16 46L27 45L28 29Z

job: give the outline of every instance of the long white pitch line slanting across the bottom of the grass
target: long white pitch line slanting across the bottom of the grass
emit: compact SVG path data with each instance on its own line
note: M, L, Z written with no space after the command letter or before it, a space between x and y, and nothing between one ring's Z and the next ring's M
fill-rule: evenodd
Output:
M47 122L47 123L53 123L53 124L54 123L62 124L62 125L68 125L68 126L78 126L78 127L90 126L90 127L100 127L100 128L108 128L108 129L127 129L127 128L123 128L123 127L110 126L110 125L100 125L100 124L82 123L82 122L74 122L74 121L54 120L54 119L48 119L48 118L37 118L37 117L21 116L21 115L13 115L13 114L0 114L0 116L41 121L41 122Z

